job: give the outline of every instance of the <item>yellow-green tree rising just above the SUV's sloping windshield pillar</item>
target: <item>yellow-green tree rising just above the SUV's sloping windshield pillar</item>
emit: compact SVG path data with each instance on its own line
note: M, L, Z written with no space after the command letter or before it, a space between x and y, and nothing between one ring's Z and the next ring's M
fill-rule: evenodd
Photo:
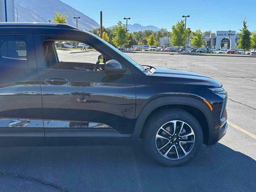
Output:
M126 26L122 24L122 21L118 21L117 26L114 27L113 43L115 46L124 46L129 43L129 34L126 31Z

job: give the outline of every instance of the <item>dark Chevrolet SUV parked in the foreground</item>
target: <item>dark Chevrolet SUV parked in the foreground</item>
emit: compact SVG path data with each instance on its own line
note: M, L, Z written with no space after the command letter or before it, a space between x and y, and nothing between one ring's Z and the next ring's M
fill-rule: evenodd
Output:
M212 78L141 66L72 26L0 23L1 147L142 140L156 161L180 166L224 136L226 101Z

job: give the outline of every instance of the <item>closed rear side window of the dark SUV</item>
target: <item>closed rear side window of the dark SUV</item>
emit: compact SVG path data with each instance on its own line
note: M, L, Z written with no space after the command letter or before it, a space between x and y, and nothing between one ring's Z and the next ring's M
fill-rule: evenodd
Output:
M28 67L26 36L0 36L0 67Z

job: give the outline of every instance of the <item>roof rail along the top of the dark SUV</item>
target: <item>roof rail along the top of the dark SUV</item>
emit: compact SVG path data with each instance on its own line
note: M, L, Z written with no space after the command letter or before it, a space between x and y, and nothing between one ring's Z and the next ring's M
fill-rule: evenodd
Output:
M67 24L58 23L36 23L36 22L0 22L0 27L42 27L42 28L61 28L78 29Z

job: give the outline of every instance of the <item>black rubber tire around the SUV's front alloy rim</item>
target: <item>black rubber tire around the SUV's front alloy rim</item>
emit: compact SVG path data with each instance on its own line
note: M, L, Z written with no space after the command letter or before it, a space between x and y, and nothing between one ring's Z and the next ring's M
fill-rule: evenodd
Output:
M192 146L191 151L187 155L184 154L185 156L179 159L169 159L164 157L162 154L160 154L156 146L156 134L159 133L159 129L167 122L173 120L185 122L194 131L194 145ZM200 152L202 148L202 128L199 122L196 120L196 118L192 116L190 113L186 112L185 110L179 108L168 108L161 110L156 114L150 116L150 119L146 122L145 126L146 127L144 132L144 146L146 148L146 151L148 152L151 158L153 158L160 164L163 164L164 166L174 167L187 164L196 157L196 155ZM178 147L180 146L177 146L177 148Z

